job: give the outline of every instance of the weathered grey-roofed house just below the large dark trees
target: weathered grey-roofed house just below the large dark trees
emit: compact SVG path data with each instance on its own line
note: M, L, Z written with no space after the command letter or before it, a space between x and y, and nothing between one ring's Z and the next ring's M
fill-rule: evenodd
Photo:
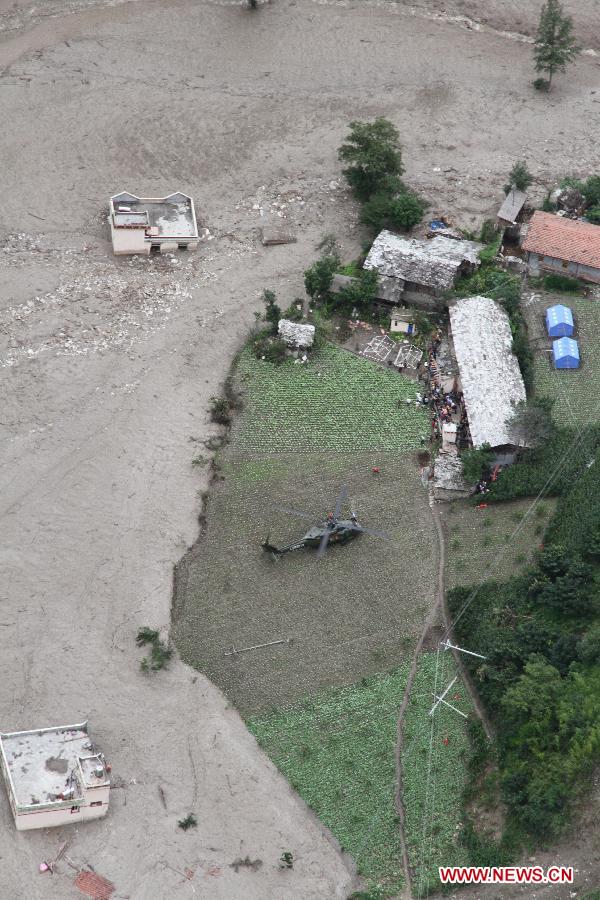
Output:
M483 244L437 234L428 240L402 238L381 231L364 262L379 273L377 298L387 303L410 300L425 308L439 306L439 298L461 275L479 266Z

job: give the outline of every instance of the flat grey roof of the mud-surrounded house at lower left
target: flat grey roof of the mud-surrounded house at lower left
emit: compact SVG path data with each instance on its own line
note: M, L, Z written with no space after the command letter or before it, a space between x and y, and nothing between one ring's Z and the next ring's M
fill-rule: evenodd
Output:
M94 775L94 769L102 762L93 755L94 748L85 722L40 731L0 733L0 747L8 766L17 806L56 801L57 795L70 786L71 773L79 774L81 757L81 770L87 786L108 783L103 766L102 777ZM76 789L74 796L81 796L81 792Z

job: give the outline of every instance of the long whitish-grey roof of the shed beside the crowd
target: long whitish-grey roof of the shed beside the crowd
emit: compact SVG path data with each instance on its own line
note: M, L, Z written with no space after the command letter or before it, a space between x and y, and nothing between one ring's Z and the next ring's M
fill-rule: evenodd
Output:
M473 446L514 445L507 422L525 400L525 385L508 315L488 297L457 300L449 311Z

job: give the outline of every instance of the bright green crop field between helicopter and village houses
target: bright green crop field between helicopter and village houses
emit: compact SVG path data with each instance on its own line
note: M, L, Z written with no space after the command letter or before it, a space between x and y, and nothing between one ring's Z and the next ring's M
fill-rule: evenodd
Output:
M273 366L245 351L238 377L248 409L239 450L410 451L429 437L409 378L327 345L307 364Z

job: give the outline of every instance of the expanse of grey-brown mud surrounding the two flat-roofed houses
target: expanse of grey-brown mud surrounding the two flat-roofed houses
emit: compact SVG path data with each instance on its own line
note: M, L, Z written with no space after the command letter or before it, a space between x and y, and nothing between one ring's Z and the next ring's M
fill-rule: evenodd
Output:
M596 14L578 5L580 23ZM0 727L89 717L117 787L102 822L31 834L0 795L2 897L79 896L69 863L38 874L67 837L119 896L350 891L348 864L219 692L181 664L145 679L134 636L168 628L206 487L191 459L260 291L287 304L325 231L348 254L362 238L336 159L347 123L391 118L407 181L466 227L519 157L540 197L596 164L593 56L540 96L526 43L432 12L0 0ZM106 203L124 189L187 191L210 239L195 256L115 259ZM268 219L299 242L263 249ZM284 850L293 871L277 867ZM258 871L230 867L247 854Z

